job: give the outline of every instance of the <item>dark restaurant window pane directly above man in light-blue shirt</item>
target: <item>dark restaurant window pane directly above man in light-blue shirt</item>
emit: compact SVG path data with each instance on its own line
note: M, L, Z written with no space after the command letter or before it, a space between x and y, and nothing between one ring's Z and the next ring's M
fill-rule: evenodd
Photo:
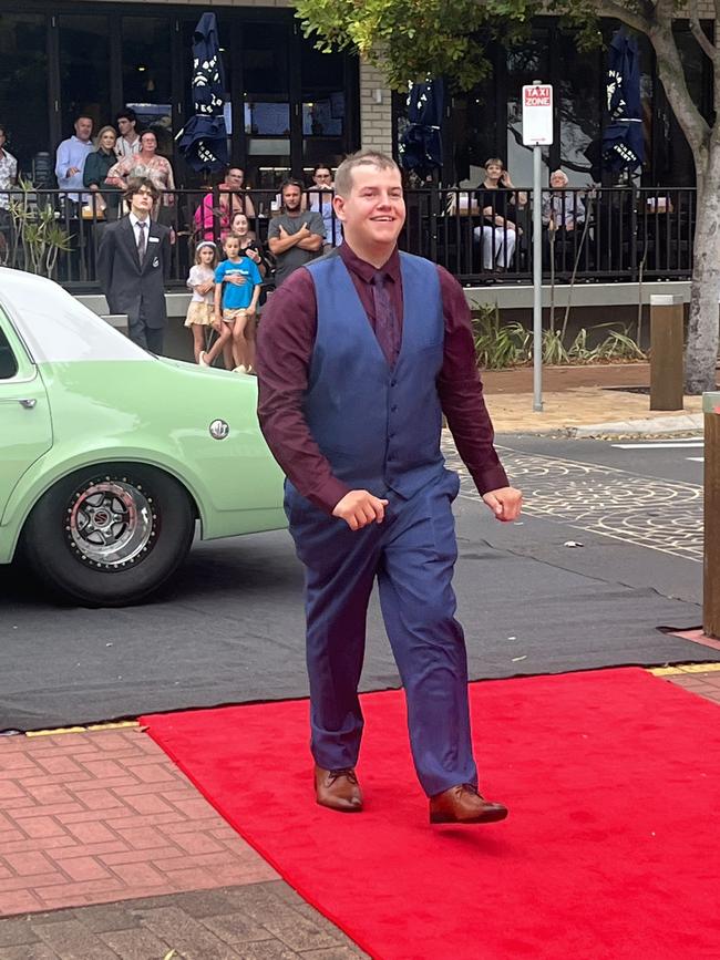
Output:
M62 14L60 31L61 136L73 133L79 113L93 118L97 130L111 120L110 41L107 18Z

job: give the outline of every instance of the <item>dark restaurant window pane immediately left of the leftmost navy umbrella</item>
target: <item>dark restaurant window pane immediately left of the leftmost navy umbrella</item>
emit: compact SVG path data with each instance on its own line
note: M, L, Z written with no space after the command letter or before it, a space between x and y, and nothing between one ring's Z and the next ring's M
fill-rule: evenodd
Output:
M123 17L123 102L138 130L153 130L158 153L173 153L171 31L164 17Z

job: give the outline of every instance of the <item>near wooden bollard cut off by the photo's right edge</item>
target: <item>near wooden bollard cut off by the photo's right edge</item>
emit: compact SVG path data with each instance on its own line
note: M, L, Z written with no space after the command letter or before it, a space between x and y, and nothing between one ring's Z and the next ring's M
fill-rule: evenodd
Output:
M720 638L720 393L706 393L702 629Z

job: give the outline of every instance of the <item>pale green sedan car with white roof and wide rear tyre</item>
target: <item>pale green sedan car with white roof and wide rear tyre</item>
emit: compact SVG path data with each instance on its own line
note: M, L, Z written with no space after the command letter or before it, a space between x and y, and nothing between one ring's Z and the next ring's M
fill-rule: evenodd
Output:
M0 268L0 564L86 606L135 602L203 539L286 525L255 378L153 357Z

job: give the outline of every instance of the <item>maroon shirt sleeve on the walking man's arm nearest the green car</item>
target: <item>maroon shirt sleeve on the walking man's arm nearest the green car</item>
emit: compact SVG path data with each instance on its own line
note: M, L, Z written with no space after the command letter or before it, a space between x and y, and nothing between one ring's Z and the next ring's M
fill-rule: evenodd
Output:
M302 413L317 331L315 286L301 267L272 293L258 324L258 417L272 455L298 492L331 514L350 488L312 438Z

